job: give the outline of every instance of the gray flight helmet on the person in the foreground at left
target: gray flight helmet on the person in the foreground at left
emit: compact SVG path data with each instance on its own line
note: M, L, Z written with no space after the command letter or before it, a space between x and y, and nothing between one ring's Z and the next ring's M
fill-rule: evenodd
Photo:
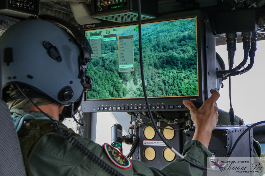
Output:
M20 21L0 37L2 89L19 84L70 105L80 101L88 82L92 84L85 72L92 50L85 36L76 34L81 33L77 28L44 17Z

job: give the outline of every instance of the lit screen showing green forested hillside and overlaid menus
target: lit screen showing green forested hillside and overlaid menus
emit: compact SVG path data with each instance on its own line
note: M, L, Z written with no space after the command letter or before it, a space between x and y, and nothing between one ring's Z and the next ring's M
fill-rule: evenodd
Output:
M87 100L143 98L138 25L85 31L93 50ZM142 24L143 70L147 95L198 94L196 18Z

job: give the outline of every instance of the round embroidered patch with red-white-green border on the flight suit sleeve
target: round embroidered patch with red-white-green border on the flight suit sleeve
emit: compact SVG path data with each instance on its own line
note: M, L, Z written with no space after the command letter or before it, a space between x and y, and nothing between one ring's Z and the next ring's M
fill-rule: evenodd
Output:
M107 143L105 143L103 147L113 164L122 169L129 169L130 167L132 167L132 162L122 153L120 153L116 148Z

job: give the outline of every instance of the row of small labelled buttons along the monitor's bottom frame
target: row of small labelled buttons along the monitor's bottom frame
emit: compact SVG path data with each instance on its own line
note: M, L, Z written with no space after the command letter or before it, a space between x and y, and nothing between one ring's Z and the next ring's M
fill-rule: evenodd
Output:
M150 109L165 109L165 105L151 105ZM180 109L182 105L168 105L168 109ZM146 106L105 106L97 107L97 111L116 111L116 110L142 110L147 109Z

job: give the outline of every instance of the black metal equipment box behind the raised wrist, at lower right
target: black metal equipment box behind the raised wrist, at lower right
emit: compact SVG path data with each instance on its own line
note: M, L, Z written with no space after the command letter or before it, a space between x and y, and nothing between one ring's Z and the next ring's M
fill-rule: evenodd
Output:
M226 157L230 153L237 138L248 126L216 126L212 132L208 149L214 156ZM186 134L186 141L193 138L195 129L190 129ZM231 156L253 156L253 135L250 129L240 139Z

